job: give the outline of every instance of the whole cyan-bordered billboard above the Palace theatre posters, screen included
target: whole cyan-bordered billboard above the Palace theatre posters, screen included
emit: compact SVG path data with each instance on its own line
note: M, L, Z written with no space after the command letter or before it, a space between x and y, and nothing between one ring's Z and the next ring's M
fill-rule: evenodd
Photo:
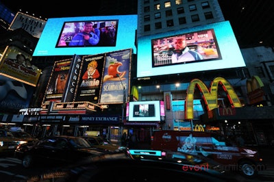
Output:
M33 56L136 53L136 29L137 15L49 18Z

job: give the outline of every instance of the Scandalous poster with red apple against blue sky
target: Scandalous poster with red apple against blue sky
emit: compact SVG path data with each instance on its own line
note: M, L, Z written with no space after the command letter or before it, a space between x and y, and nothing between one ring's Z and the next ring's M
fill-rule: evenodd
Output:
M129 89L132 49L106 53L100 103L123 103Z

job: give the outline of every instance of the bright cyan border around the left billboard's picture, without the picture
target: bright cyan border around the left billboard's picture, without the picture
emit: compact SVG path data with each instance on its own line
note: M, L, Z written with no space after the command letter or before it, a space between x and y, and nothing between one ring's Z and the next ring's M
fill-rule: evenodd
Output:
M119 23L116 29L116 44L108 47L56 47L56 44L64 31L66 22L108 22L115 20ZM116 16L84 16L70 18L49 18L42 31L33 56L49 55L95 55L122 49L133 49L137 29L137 15L116 15Z

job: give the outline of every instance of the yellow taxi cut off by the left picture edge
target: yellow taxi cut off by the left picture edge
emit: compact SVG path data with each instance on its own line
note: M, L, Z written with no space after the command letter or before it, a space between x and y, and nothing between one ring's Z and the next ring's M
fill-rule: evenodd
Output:
M0 129L0 153L13 154L18 144L25 144L27 142L35 142L37 138L25 131Z

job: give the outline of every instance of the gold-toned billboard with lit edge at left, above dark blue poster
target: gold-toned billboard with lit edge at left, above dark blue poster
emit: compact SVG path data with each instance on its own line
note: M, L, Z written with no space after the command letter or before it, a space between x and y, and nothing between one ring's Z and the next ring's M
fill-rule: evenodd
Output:
M32 55L17 47L6 47L0 60L0 75L36 86L41 70L32 64Z

